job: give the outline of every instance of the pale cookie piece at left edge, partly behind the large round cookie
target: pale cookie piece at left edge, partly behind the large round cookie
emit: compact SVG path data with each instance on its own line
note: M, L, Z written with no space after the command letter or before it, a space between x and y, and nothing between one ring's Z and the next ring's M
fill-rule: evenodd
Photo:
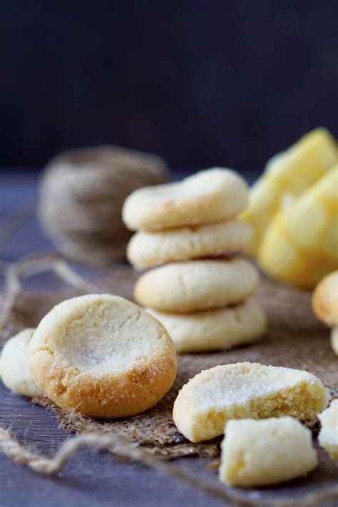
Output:
M28 347L35 329L27 328L11 337L2 349L0 357L0 374L3 384L12 392L22 396L42 395L34 384L29 372Z

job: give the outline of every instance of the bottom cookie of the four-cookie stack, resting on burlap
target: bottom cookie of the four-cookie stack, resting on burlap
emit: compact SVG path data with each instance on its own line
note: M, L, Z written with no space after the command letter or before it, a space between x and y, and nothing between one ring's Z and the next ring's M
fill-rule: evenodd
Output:
M176 351L181 353L211 352L253 342L262 336L266 327L265 314L254 299L235 307L193 314L147 311L163 324Z

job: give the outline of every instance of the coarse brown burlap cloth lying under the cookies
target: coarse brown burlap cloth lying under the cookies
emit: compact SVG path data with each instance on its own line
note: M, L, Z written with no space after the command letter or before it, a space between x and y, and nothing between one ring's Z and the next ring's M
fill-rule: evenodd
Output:
M113 292L132 299L136 277L130 267L121 265L95 282L102 292ZM21 292L11 312L11 332L36 326L53 304L76 293L74 290L43 294ZM205 444L191 444L178 432L172 419L173 401L178 390L202 369L243 361L305 369L322 379L333 398L338 396L338 358L329 344L329 330L312 314L310 298L309 292L262 277L257 300L267 312L269 325L265 337L255 344L228 352L180 355L178 376L173 388L153 409L139 416L118 421L98 421L58 409L48 399L34 401L53 411L61 426L68 431L83 433L95 429L103 433L113 432L137 441L154 454L169 458L218 456L219 439ZM312 429L316 431L316 424L312 425Z

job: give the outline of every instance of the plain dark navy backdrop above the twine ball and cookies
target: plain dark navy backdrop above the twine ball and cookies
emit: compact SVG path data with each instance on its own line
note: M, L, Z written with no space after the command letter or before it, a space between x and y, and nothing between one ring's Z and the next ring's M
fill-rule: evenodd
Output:
M261 168L338 135L338 1L0 1L0 166L116 143Z

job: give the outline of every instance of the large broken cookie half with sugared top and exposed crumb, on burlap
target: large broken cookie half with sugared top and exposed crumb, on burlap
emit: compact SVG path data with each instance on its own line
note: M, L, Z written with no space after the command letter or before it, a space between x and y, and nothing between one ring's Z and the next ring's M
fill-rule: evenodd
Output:
M173 419L187 439L200 442L222 435L230 419L311 420L328 399L322 381L308 372L250 362L225 364L201 372L183 386Z

